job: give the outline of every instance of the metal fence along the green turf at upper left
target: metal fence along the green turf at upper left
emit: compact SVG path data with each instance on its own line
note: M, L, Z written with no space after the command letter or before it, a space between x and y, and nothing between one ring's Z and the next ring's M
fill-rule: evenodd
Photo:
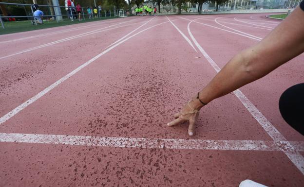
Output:
M35 20L34 16L34 8L33 4L21 4L21 3L8 3L8 2L0 2L0 4L7 6L7 8L11 7L18 7L19 9L23 9L24 12L22 16L13 15L14 13L8 13L8 16L3 16L0 14L0 22L1 26L4 29L5 21L9 21L10 19L14 18L17 20ZM79 14L76 12L76 7L65 7L65 6L50 6L50 5L38 5L39 10L41 10L44 15L42 16L44 19L47 20L56 20L57 22L62 21L64 19L68 19L74 21L75 19L78 20ZM91 9L91 14L89 14L89 9ZM62 14L66 13L66 14ZM19 13L20 14L20 13ZM92 7L81 7L80 12L80 19L101 19L106 17L124 17L126 12L121 10L98 10L97 14L94 14ZM40 17L40 16L39 16ZM37 22L34 21L37 25Z

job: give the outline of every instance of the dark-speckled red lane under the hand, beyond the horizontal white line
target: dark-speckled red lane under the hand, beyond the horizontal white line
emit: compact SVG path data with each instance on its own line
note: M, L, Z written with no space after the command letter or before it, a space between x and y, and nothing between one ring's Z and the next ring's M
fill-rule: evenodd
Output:
M174 18L176 17L172 20L176 22ZM144 131L148 137L188 138L187 125L166 127L165 130L159 128L157 131L155 125L163 127L172 119L172 112L177 111L197 91L197 86L189 85L189 82L203 87L215 72L211 67L207 70L207 67L201 65L202 59L195 58L199 55L171 24L162 25L161 32L167 34L161 36L159 28L152 28L118 46L115 51L123 51L119 55L113 52L101 57L92 66L51 91L51 95L45 95L2 124L3 131L69 135L86 135L91 132L98 136L123 137L141 137L141 132ZM155 38L163 41L162 45ZM146 43L136 42L141 40ZM151 44L151 47L147 44ZM176 46L180 46L178 51L175 50ZM142 54L145 54L144 57ZM205 73L202 75L201 72ZM97 87L99 89L96 90ZM100 93L104 93L102 97ZM72 95L75 96L71 97ZM175 96L173 103L169 102L172 96ZM242 118L246 109L238 100L232 95L228 98L230 100L219 99L206 108L198 122L197 136L194 138L242 140L250 137L254 140L269 140L262 128L255 128L257 122L248 113L247 119ZM142 104L138 105L138 102ZM232 111L227 110L228 105L233 108ZM66 106L70 106L69 110ZM85 109L87 107L90 109ZM100 114L103 115L99 116ZM27 119L26 116L32 118ZM51 125L48 125L49 122ZM20 126L20 123L23 125ZM60 128L62 125L67 128ZM94 130L90 130L92 128ZM257 133L252 135L252 131Z

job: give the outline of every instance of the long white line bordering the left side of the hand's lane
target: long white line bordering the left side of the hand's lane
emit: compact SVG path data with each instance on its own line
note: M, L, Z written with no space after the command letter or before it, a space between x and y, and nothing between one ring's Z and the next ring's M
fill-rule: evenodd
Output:
M55 83L53 83L52 85L46 87L44 90L42 90L41 92L39 92L37 95L35 95L34 97L30 98L29 100L27 100L26 102L23 102L22 104L20 104L19 106L17 106L15 109L13 109L12 111L10 111L9 113L7 113L6 115L2 116L0 118L0 125L2 123L4 123L5 121L7 121L8 119L12 118L13 116L15 116L16 114L18 114L21 110L23 110L25 107L27 107L28 105L30 105L31 103L37 101L40 97L42 97L43 95L45 95L46 93L48 93L49 91L51 91L52 89L54 89L55 87L57 87L57 85L60 85L62 82L64 82L65 80L67 80L68 78L70 78L71 76L73 76L75 73L77 73L78 71L80 71L82 68L88 66L89 64L91 64L93 61L95 61L97 58L99 58L100 56L106 54L107 52L113 50L115 47L117 47L118 45L122 44L123 42L129 40L130 38L133 38L134 36L147 31L148 29L151 29L153 27L156 27L158 25L164 24L164 23L168 23L169 21L165 21L156 25L153 25L151 27L148 27L136 34L133 34L131 36L129 36L128 38L116 43L115 45L113 45L112 47L108 48L107 50L99 53L98 55L96 55L94 58L92 58L91 60L87 61L86 63L82 64L81 66L79 66L78 68L74 69L73 71L71 71L69 74L65 75L64 77L62 77L61 79L59 79L58 81L56 81Z

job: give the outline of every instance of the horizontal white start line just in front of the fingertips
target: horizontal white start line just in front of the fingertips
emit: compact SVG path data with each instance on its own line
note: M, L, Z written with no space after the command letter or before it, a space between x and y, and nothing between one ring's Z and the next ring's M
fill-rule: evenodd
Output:
M98 137L71 135L41 135L0 133L0 142L64 144L77 146L100 146L122 148L160 148L194 150L231 150L231 151L282 151L289 148L279 147L274 141L261 140L211 140L211 139L164 139L134 137ZM303 151L293 150L293 151Z

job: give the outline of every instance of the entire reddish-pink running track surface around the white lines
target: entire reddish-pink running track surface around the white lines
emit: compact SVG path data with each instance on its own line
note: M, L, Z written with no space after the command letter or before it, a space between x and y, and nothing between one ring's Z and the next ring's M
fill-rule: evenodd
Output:
M237 52L258 42L246 37L248 34L263 38L280 22L264 16L168 17L197 52L164 16L127 17L0 36L0 47L5 49L0 55L2 117L150 20L126 38L147 30L117 45L1 122L0 187L237 187L245 179L269 187L303 186L304 175L298 169L304 167L303 156L294 163L279 148L196 149L195 142L200 140L263 140L275 145L232 93L202 109L196 134L190 138L194 145L155 147L168 138L172 142L190 141L186 124L168 127L166 123L216 74L191 40L187 30L190 20L199 18L190 24L190 32L222 68ZM102 28L111 30L88 33ZM50 44L84 33L89 35ZM45 35L35 37L39 34ZM48 46L16 54L44 44ZM278 100L289 86L304 82L303 60L302 54L240 89L286 140L297 145L291 153L302 155L304 137L282 119ZM34 141L20 141L13 135ZM114 142L106 146L88 142L80 145L64 142L61 136L48 142L46 135L81 136L79 141L86 136L114 137ZM136 144L131 148L117 146L116 137L143 138L139 144L157 141L150 147Z

